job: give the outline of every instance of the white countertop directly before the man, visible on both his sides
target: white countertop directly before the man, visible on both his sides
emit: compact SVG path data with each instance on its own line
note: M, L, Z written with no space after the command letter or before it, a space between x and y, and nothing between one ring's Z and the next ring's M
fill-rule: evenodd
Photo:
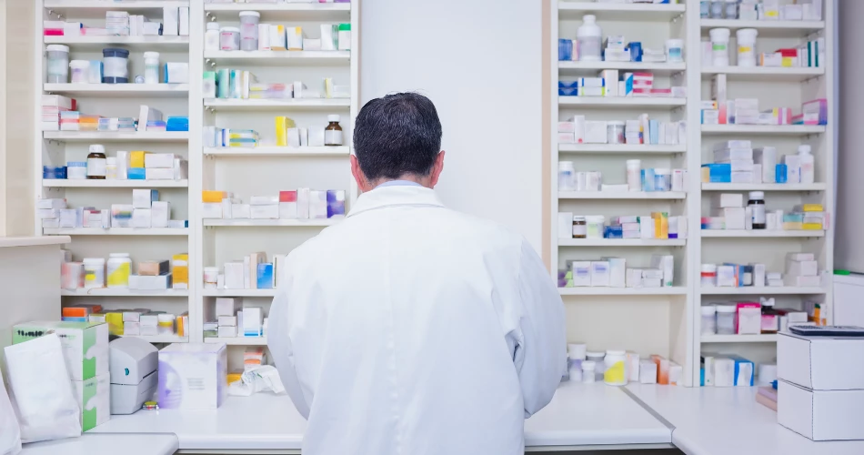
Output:
M218 410L140 410L90 433L175 433L180 450L299 450L304 420L286 395L228 397ZM526 421L527 448L670 444L671 430L621 389L564 383ZM129 455L129 454L124 454Z

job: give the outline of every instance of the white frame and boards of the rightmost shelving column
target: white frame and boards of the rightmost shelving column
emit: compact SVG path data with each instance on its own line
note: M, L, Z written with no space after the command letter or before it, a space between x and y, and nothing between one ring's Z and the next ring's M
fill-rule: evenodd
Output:
M800 105L816 98L827 98L829 104L828 126L749 126L714 125L690 128L693 137L693 156L698 160L691 162L691 180L697 185L691 193L695 217L691 218L692 227L699 226L699 214L710 216L712 198L721 192L743 194L748 191L764 191L766 207L783 209L787 213L801 203L823 204L830 212L834 205L834 130L836 119L833 117L834 99L833 77L834 35L829 25L834 24L834 3L823 2L823 21L742 21L699 19L698 1L688 0L688 86L698 87L697 95L688 100L689 124L699 124L699 99L710 99L711 79L717 75L727 76L728 97L759 98L759 108L791 107L793 113L800 112ZM715 27L728 27L732 30L729 45L732 66L711 66L711 62L701 61L698 52L700 38L708 36L708 30ZM735 66L737 56L734 49L735 31L740 28L755 28L759 31L756 41L757 52L769 52L781 47L794 47L814 39L816 36L826 40L826 65L810 67L744 67ZM692 103L690 103L692 101ZM698 185L698 166L713 162L711 150L718 142L730 139L752 140L754 147L777 147L778 155L796 153L800 144L809 144L816 158L816 183L813 184L714 184ZM834 218L834 214L830 214ZM701 288L698 285L699 265L733 262L738 264L764 263L769 271L785 273L785 257L788 252L814 253L822 269L831 269L833 264L834 231L724 231L690 230L694 242L692 251L696 255L691 270L695 279L694 311L690 325L694 328L692 373L698 378L698 356L717 353L735 353L755 362L769 362L776 359L776 335L700 335L700 313L698 307L712 303L738 301L759 301L760 297L775 298L779 308L803 309L805 302L819 302L823 315L831 321L831 276L823 274L819 288L763 287L763 288Z

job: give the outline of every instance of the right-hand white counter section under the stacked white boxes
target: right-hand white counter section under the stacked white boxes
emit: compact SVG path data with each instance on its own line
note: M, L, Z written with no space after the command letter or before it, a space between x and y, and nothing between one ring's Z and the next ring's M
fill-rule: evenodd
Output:
M756 402L755 387L627 386L672 424L672 443L688 455L860 455L864 441L814 442L781 427ZM852 417L857 418L857 417Z

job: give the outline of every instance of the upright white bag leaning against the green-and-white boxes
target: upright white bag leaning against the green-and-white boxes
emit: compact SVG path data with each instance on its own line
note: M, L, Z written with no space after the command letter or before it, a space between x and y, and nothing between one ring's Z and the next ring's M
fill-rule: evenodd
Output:
M81 409L55 333L7 346L6 371L22 442L81 436Z

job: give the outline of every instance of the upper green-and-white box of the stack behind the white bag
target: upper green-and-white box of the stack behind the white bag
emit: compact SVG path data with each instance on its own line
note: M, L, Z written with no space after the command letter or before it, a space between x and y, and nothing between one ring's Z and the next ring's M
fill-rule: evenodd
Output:
M108 373L108 326L103 322L56 320L16 324L12 344L42 337L54 330L63 345L69 379L85 380Z

